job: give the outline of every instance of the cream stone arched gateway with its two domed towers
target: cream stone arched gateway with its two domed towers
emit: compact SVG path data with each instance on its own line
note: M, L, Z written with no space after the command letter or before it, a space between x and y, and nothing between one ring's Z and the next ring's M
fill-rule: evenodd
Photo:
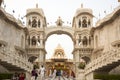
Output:
M27 36L27 53L29 54L29 61L34 62L38 58L40 65L45 65L45 41L52 34L67 34L71 37L74 50L73 63L74 71L77 75L78 65L81 59L90 60L90 54L93 50L91 35L92 29L92 10L88 8L79 8L73 17L72 27L64 26L62 19L59 17L55 26L47 26L46 17L41 8L28 9L26 14L27 29L29 35Z

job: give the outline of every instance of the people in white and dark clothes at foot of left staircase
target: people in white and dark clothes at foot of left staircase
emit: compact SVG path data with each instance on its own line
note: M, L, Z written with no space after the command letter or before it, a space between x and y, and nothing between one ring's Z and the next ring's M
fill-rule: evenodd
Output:
M42 65L40 69L33 68L31 72L31 80L45 80L45 68Z

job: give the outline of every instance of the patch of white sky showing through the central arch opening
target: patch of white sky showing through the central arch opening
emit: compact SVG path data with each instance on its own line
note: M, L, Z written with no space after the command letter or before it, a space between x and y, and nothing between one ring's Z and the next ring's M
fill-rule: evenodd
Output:
M50 57L52 57L54 53L54 49L57 47L58 44L61 44L61 46L65 50L66 56L72 59L73 58L72 51L73 51L74 43L72 39L65 34L62 35L53 34L48 37L45 43L45 49L47 51L46 58L49 59Z

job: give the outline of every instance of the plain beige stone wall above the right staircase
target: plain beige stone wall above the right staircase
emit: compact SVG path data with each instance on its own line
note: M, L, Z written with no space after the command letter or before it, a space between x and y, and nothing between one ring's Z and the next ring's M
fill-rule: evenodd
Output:
M94 32L94 47L104 47L104 51L112 48L111 43L120 40L120 16ZM96 39L97 36L97 39Z

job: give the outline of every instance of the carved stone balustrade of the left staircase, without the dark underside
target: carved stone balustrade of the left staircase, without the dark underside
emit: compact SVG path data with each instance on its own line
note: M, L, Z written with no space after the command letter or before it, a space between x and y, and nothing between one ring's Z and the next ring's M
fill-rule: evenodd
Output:
M33 68L33 65L28 62L27 56L19 54L17 51L10 51L2 47L0 48L0 56L1 61L19 67L20 69L31 71Z

